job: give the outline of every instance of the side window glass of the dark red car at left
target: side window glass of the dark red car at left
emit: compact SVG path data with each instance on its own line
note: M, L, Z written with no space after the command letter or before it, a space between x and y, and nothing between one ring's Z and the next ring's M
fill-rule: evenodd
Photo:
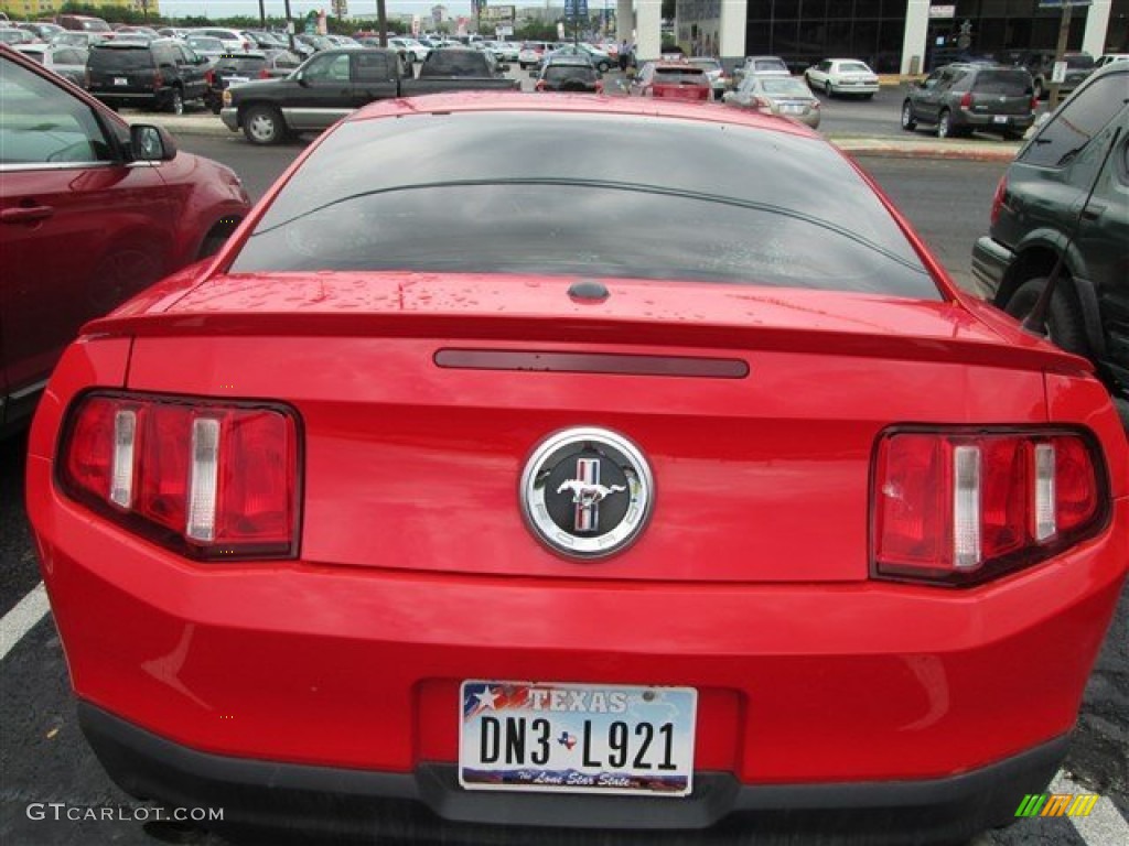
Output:
M0 165L113 159L89 106L14 62L0 71Z

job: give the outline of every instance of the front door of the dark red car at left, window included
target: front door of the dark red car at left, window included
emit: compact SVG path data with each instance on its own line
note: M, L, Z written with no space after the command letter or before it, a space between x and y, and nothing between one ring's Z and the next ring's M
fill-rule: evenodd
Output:
M123 162L110 118L15 61L0 56L0 337L10 424L30 413L84 323L166 273L175 214L158 168Z

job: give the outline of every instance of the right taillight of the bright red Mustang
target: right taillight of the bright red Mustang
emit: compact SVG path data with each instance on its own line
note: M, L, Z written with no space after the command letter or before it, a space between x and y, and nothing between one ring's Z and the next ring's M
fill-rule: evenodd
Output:
M895 431L878 443L876 578L970 584L1096 534L1104 470L1076 432Z

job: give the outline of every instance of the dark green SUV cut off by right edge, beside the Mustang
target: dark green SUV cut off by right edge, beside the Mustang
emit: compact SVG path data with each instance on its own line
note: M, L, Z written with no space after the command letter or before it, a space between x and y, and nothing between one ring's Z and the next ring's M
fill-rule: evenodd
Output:
M1094 362L1129 424L1127 90L1129 63L1108 64L1039 127L1000 179L972 270L995 305L1026 317L1061 261L1051 340Z

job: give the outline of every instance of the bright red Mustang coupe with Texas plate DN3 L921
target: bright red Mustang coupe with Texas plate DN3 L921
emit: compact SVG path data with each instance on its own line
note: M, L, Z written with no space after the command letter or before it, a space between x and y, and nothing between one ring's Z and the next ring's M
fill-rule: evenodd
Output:
M1089 364L692 104L358 112L86 327L29 449L107 770L314 836L968 837L1059 767L1129 562Z

